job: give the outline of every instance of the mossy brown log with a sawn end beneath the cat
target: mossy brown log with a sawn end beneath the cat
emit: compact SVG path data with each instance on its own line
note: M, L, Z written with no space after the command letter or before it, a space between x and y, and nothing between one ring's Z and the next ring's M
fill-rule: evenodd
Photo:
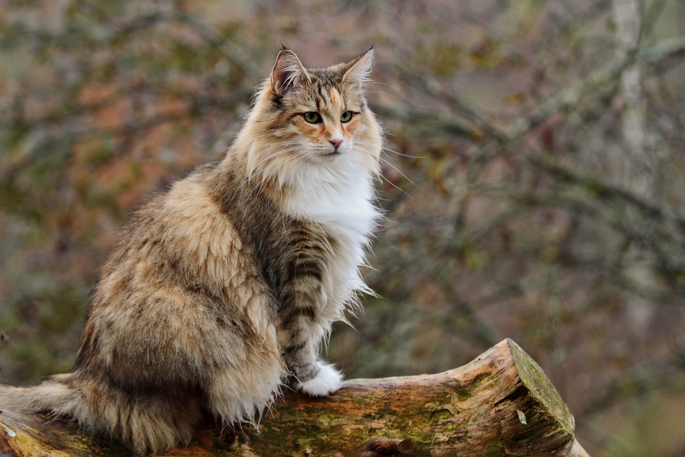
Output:
M286 393L259 432L208 421L173 456L588 457L542 369L511 340L436 375L350 380L331 397ZM130 456L110 439L41 415L0 414L0 454Z

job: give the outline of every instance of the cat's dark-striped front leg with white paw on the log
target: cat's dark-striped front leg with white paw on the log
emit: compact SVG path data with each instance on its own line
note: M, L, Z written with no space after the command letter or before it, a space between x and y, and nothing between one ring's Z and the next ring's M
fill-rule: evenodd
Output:
M343 375L319 359L325 329L316 322L321 285L311 271L297 269L279 312L279 344L283 358L295 378L293 386L312 397L334 393Z

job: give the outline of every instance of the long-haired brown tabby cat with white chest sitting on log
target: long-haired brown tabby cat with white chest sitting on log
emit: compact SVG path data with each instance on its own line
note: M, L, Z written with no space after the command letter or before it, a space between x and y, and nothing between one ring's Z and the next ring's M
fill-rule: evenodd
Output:
M188 443L203 410L256 423L285 382L336 391L320 346L371 293L359 267L379 220L372 60L306 69L281 49L225 158L123 229L71 372L0 387L0 408L71 417L146 454Z

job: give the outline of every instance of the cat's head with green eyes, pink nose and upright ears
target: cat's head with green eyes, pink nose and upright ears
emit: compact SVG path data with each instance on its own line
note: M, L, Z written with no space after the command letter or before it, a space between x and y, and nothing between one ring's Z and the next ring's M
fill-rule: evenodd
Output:
M247 125L251 173L378 173L382 129L364 94L373 51L325 69L306 69L282 49ZM246 138L247 139L247 138Z

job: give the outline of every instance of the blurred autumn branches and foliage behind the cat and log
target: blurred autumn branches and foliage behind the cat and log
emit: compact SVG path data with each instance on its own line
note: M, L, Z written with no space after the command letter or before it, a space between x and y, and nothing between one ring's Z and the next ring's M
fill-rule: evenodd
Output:
M221 158L281 43L375 50L347 377L510 337L590 455L685 456L685 0L0 0L0 382L69 369L127 214Z

